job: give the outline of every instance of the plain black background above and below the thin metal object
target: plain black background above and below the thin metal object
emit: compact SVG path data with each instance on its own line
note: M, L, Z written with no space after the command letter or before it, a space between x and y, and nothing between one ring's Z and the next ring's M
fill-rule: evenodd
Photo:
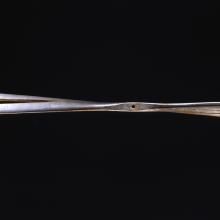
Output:
M1 3L1 93L220 100L216 5L104 2ZM4 203L208 219L219 127L218 118L165 113L1 116Z

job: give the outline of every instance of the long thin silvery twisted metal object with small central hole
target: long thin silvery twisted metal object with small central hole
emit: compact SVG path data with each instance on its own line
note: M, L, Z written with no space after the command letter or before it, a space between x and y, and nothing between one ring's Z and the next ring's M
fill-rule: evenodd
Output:
M172 112L220 117L220 102L148 103L91 102L24 95L0 94L0 115L47 112L116 111Z

